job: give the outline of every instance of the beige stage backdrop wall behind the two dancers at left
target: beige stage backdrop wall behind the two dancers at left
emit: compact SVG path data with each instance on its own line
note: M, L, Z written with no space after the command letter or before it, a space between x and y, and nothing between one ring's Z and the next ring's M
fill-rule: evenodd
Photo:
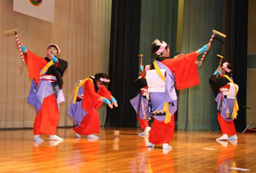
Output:
M50 43L61 49L60 57L69 62L64 74L66 102L60 105L59 126L72 126L66 114L75 82L97 72L108 73L111 0L55 0L55 20L50 23L13 11L13 1L0 1L0 128L32 127L35 109L26 102L31 79L27 69L20 73L20 55L14 35L4 32L18 29L20 41L38 56L45 56ZM105 106L99 110L101 124Z

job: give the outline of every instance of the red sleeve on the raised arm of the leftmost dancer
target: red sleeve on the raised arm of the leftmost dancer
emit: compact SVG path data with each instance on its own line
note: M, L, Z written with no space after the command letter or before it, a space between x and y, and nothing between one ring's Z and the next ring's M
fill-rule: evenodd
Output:
M44 58L35 55L30 50L28 50L27 53L24 53L24 58L28 67L29 77L34 78L35 83L38 83L40 69L43 69L44 66L47 65L47 61Z

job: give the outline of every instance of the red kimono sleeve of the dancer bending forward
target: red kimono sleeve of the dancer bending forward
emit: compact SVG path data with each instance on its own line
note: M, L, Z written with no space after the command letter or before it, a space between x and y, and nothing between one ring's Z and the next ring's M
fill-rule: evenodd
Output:
M93 82L91 80L87 80L84 83L84 99L82 101L82 108L84 108L84 111L87 111L87 113L93 111L93 109L96 108L100 97L101 96L95 92Z

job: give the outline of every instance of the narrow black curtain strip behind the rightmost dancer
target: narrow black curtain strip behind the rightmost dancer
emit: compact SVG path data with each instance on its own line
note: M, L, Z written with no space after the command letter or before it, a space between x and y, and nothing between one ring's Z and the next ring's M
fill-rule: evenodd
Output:
M225 0L224 13L224 30L228 35L224 55L232 63L233 80L239 85L239 116L234 122L236 129L242 131L246 126L248 0Z

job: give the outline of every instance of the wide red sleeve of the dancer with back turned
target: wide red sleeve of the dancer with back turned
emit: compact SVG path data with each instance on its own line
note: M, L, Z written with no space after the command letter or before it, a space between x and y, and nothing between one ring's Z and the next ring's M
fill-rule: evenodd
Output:
M196 61L197 53L192 52L161 62L175 74L176 88L182 90L200 84Z

